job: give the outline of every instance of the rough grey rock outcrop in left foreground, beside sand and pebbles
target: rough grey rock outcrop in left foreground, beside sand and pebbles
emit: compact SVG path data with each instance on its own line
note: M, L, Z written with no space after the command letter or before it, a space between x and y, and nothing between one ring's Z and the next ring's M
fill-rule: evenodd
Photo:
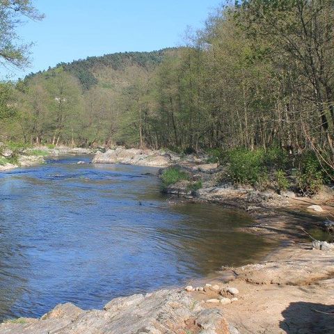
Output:
M238 333L218 308L204 308L184 291L159 290L113 299L103 310L59 304L40 319L0 325L1 334L230 334Z

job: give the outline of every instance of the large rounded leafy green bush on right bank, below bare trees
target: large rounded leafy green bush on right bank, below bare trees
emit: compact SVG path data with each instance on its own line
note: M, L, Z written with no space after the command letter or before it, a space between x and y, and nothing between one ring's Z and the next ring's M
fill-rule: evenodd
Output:
M237 148L225 152L223 160L228 162L228 175L233 182L262 186L268 180L264 166L264 150Z

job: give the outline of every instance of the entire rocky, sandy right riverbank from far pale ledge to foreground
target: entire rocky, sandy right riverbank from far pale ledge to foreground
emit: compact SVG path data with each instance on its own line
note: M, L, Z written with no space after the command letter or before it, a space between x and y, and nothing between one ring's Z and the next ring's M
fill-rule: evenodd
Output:
M170 205L183 198L246 209L254 222L244 230L279 244L278 250L263 262L222 267L212 278L191 281L180 289L113 299L103 310L58 305L40 319L1 324L0 333L333 333L334 252L312 248L304 232L319 229L326 218L334 216L331 189L312 199L294 193L260 192L217 182L221 168L203 164L205 161L197 157L163 154L164 159L159 160L156 152L137 153L113 150L95 158L99 162L154 166L151 163L158 157L157 161L168 161L160 166L177 164L189 173L189 180L168 186ZM202 188L191 190L189 184L198 180Z

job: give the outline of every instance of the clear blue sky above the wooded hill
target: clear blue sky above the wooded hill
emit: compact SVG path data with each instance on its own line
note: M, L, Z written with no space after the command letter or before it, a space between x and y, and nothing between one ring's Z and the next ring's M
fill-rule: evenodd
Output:
M186 26L194 29L220 0L35 0L42 22L18 29L34 42L31 67L13 79L61 61L118 51L152 51L182 44ZM0 70L0 75L6 73Z

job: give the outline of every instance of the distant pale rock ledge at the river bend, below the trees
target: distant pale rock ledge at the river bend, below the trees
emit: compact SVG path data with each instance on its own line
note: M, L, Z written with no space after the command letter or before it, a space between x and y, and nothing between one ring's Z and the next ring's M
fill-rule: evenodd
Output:
M175 161L177 157L164 151L141 150L138 148L116 148L106 152L97 152L93 158L93 164L128 164L139 166L166 167Z

